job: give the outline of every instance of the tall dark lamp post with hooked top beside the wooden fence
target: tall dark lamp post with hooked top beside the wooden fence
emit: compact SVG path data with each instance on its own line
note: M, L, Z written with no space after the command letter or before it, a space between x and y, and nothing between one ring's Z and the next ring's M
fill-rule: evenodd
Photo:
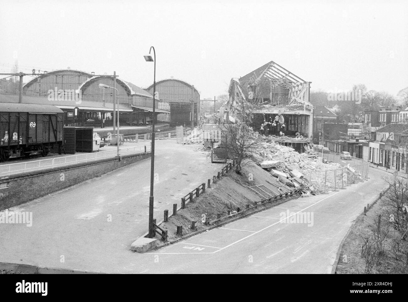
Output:
M153 49L154 58L151 56ZM155 124L155 94L156 94L156 51L153 46L150 47L149 54L144 56L146 62L154 62L154 77L153 77L153 125L152 125L152 143L151 143L151 168L150 168L150 197L149 197L149 235L148 238L153 238L153 181L154 181L154 124Z

